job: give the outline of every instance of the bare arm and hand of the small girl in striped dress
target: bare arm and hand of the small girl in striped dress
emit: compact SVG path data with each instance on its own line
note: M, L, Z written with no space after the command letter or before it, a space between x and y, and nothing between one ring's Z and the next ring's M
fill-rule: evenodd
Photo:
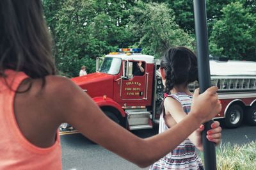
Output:
M188 114L184 112L182 105L177 100L173 99L172 97L167 97L164 100L164 108L167 114L171 114L172 118L179 123L180 121L184 120ZM217 112L216 112L217 113ZM166 118L170 118L166 116ZM168 121L168 120L167 120ZM221 139L221 127L218 121L214 121L211 125L212 129L207 131L207 139L212 141L216 144L220 143ZM195 144L198 150L203 150L202 145L202 131L204 130L204 125L200 125L200 127L195 130L191 135L189 135L189 140Z

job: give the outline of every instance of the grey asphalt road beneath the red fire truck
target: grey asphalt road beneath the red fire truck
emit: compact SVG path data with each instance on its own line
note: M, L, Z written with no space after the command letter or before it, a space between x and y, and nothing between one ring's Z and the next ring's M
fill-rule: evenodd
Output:
M157 130L136 130L134 134L149 137L157 134ZM242 125L239 128L223 128L222 143L244 144L256 141L256 127ZM137 170L139 167L118 157L97 144L93 144L81 134L61 135L63 170L70 169L120 169ZM148 168L144 168L148 169Z

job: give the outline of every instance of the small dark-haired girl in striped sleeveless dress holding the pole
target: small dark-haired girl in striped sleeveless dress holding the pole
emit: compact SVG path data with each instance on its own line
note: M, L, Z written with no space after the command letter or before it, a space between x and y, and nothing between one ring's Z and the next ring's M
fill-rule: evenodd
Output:
M163 79L164 92L163 112L159 120L159 134L175 127L184 120L191 111L193 94L188 84L198 80L197 60L195 54L186 47L173 47L166 51L160 63L159 71ZM212 128L221 131L220 123L214 121ZM174 150L155 162L150 170L156 169L204 169L203 164L195 153L195 148L203 150L202 135L204 125L195 130ZM179 131L180 132L180 131ZM207 132L207 139L216 144L220 143L221 134Z

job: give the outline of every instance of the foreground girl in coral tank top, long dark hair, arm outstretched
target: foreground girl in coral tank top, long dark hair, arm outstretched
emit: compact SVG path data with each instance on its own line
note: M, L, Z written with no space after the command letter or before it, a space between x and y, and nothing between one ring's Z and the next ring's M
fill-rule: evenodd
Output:
M0 169L61 169L63 122L147 167L221 111L217 87L200 95L196 90L186 118L141 139L111 121L74 82L56 75L41 0L1 0L0 23ZM220 135L218 128L211 132Z

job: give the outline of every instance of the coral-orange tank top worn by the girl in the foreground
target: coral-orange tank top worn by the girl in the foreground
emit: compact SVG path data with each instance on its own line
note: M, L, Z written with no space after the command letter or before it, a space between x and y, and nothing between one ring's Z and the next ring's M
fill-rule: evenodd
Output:
M6 70L0 77L0 169L61 169L60 135L49 148L31 144L20 132L14 113L14 98L24 72Z

